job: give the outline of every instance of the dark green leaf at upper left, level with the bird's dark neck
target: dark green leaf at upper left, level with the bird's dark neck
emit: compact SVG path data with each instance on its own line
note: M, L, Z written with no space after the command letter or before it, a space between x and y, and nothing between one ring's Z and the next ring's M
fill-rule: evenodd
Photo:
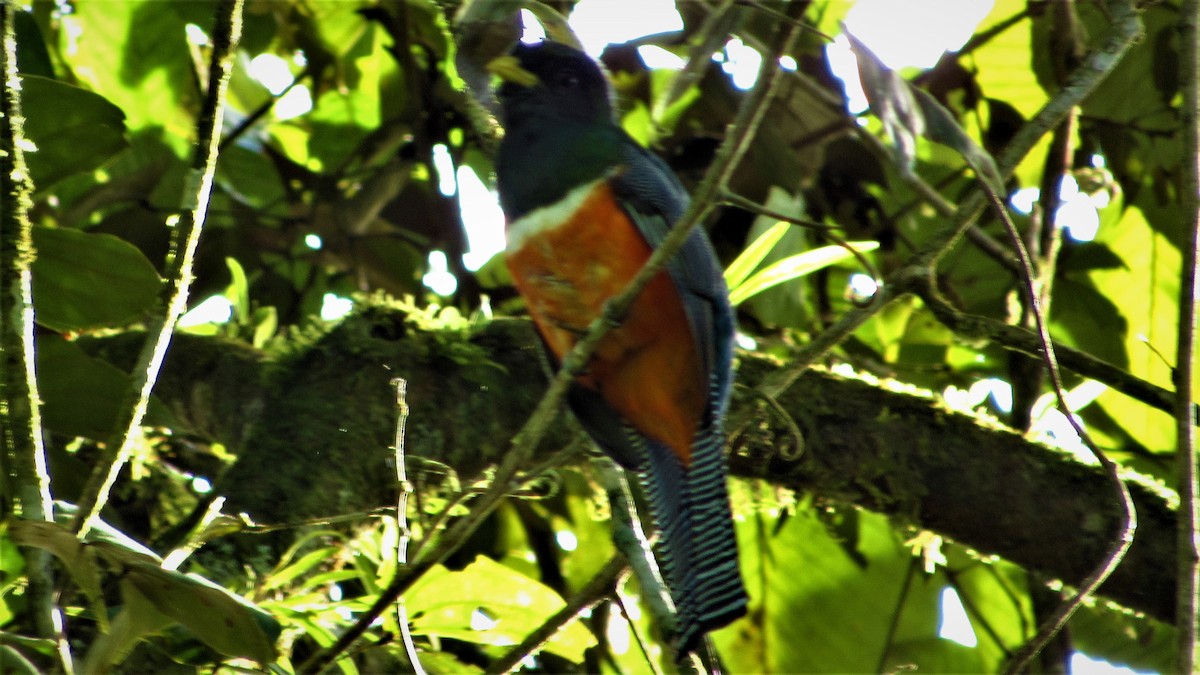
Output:
M37 147L25 161L38 190L92 171L128 145L125 113L98 94L25 74L20 98L25 137Z

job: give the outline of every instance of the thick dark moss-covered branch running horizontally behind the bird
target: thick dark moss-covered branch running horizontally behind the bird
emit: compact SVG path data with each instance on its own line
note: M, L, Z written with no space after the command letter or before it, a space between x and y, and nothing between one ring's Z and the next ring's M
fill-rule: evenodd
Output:
M416 461L409 468L420 460L437 462L464 483L508 455L506 440L546 387L528 322L494 321L457 338L461 342L404 325L400 312L367 311L276 363L240 346L180 335L156 395L182 419L221 418L212 429L230 437L217 440L239 454L215 488L228 497L228 510L263 522L294 522L391 507L395 470L382 449L394 442L395 396L388 383L396 374L409 381L414 423L406 446L410 462ZM217 357L215 344L230 347L227 360ZM134 358L137 340L91 341L88 348L102 346L113 356L130 352L118 359L122 365ZM191 369L193 359L204 366ZM739 363L738 382L750 389L786 368L745 353ZM233 374L263 382L268 370L275 375L260 388L222 388ZM198 394L214 390L222 396ZM340 406L330 406L331 393ZM1099 467L995 420L948 410L929 394L814 369L778 402L800 428L804 453L780 453L792 447L793 431L739 387L731 418L749 419L755 434L738 435L731 425L734 476L884 513L1068 584L1091 572L1118 522ZM550 459L571 438L568 425L554 424L545 449L530 461ZM1132 473L1124 478L1139 513L1138 540L1099 592L1170 621L1176 515L1160 488ZM427 477L410 479L431 489Z

